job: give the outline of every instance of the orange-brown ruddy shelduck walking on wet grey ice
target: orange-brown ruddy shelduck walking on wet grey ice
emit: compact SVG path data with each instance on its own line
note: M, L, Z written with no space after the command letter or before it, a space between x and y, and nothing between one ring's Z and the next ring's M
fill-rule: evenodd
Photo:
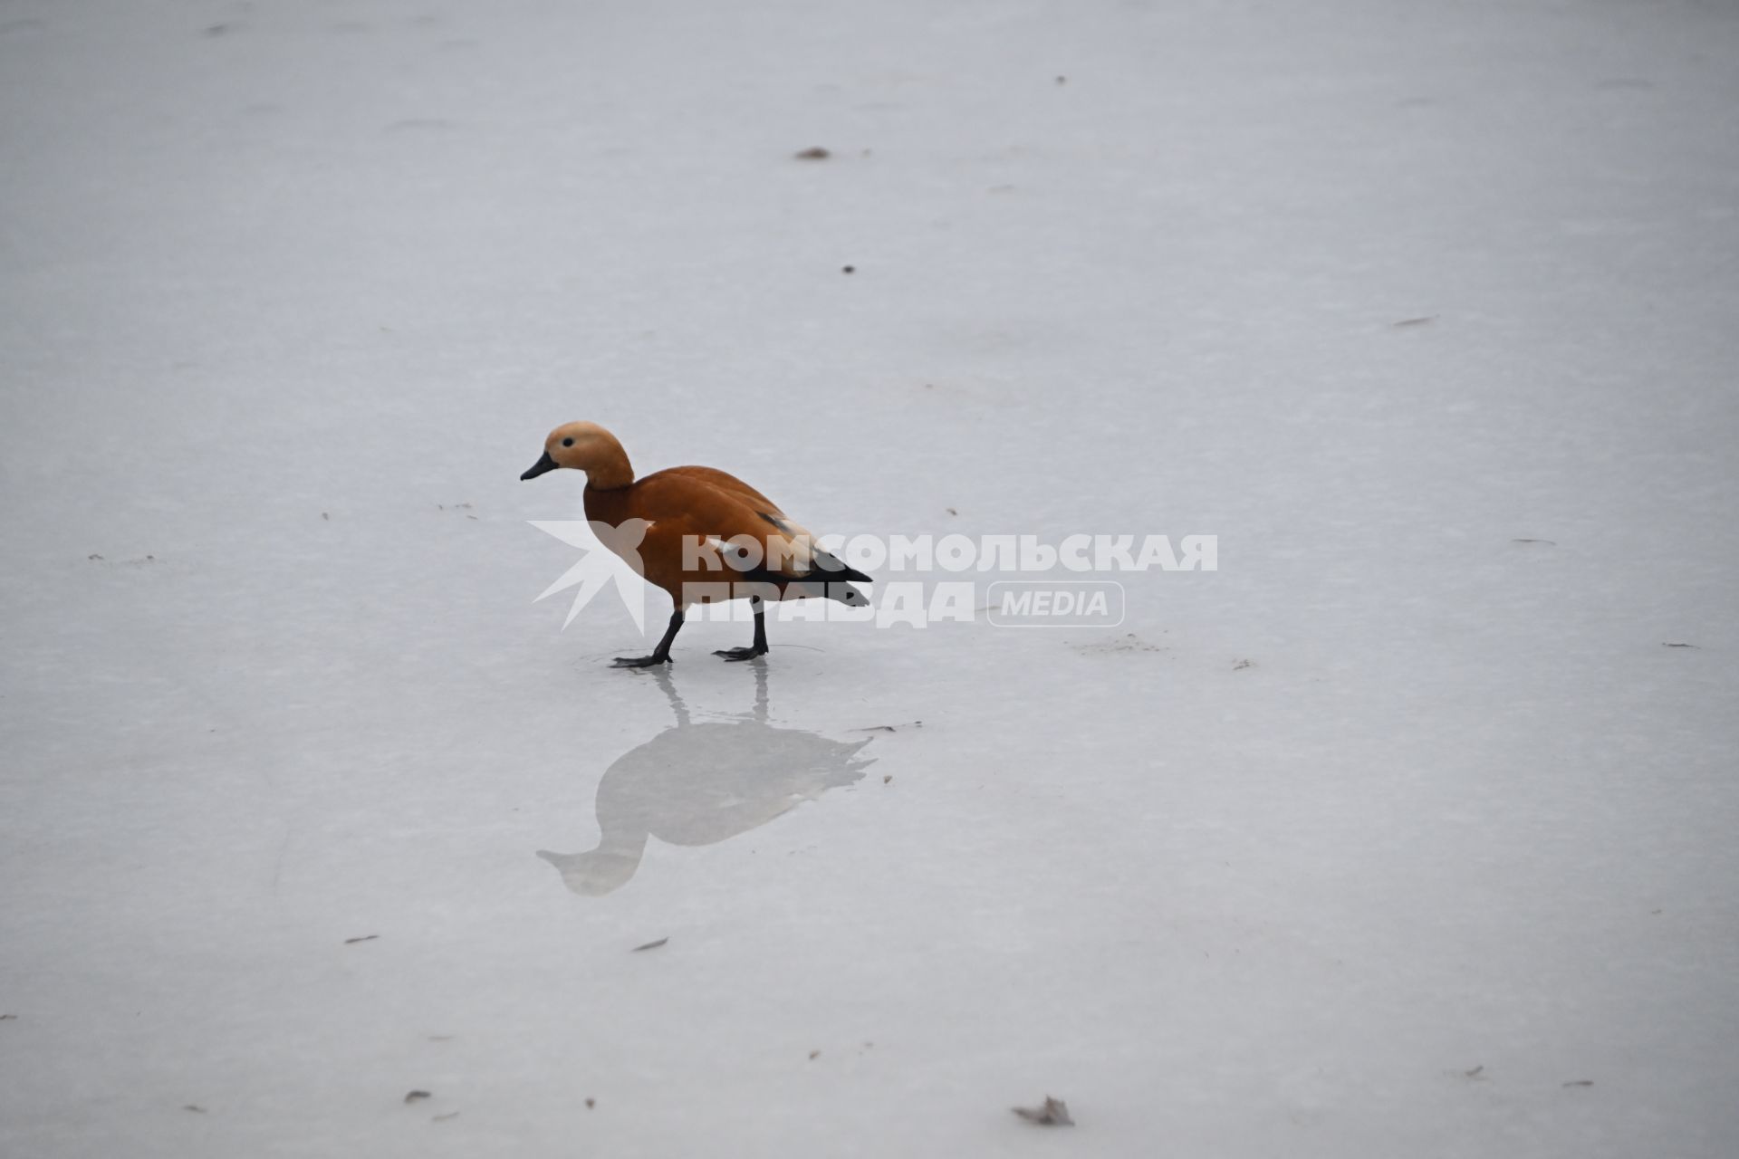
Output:
M850 606L870 603L847 582L870 582L868 575L817 547L809 530L732 474L670 467L635 481L628 452L596 422L567 422L550 431L543 457L520 478L536 480L562 467L586 473L586 520L605 527L600 532L605 547L670 593L673 605L652 655L616 657L616 667L670 664L670 645L696 603L751 601L755 643L713 653L727 660L767 653L763 599L821 596Z

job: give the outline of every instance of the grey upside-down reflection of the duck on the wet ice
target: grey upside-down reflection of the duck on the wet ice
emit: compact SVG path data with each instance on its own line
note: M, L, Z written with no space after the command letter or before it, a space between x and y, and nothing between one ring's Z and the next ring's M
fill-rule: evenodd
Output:
M767 723L767 664L755 667L755 711L732 721L696 725L670 669L654 679L676 723L624 752L598 782L598 848L537 857L562 871L574 893L596 897L628 884L647 838L670 844L713 844L765 825L828 789L854 784L875 758L868 740L828 740Z

